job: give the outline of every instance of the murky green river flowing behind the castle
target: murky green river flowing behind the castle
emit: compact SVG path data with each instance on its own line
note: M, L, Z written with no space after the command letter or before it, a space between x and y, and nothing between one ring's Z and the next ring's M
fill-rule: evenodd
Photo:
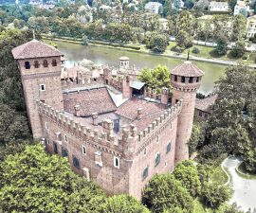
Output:
M147 55L104 46L83 46L80 44L68 44L61 42L55 43L58 44L58 49L64 53L64 57L67 59L66 66L71 66L74 62L81 62L82 59L88 59L97 64L109 64L118 67L119 57L124 55L130 58L131 65L135 64L139 68L153 68L158 64L162 64L172 69L175 65L183 62L179 59ZM220 76L224 75L226 66L208 62L193 63L205 72L199 92L207 95L212 92L214 82L218 80Z

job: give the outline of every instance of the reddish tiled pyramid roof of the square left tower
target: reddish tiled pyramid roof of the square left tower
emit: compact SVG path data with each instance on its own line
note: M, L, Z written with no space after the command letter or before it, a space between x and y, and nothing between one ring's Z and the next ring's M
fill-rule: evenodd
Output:
M63 56L58 49L37 40L19 45L13 48L11 52L15 60Z

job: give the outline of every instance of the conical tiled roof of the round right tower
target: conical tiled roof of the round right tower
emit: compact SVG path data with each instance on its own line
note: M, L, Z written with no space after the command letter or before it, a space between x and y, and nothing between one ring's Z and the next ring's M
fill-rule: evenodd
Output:
M176 76L185 77L200 77L204 75L204 72L190 61L175 66L171 73Z

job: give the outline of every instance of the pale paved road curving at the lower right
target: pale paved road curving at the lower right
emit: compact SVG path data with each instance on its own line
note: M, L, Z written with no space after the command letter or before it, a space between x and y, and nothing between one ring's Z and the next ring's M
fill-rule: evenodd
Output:
M235 168L239 166L242 161L236 157L229 157L224 167L229 169L231 175L231 186L234 190L230 204L236 202L243 210L248 208L256 208L256 180L247 180L240 177Z

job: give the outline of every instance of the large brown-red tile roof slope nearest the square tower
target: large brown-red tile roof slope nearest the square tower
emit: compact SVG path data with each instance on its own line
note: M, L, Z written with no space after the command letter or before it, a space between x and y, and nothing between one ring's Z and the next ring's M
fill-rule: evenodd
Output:
M80 105L81 115L104 114L117 109L106 88L80 91L64 95L64 111L75 114L74 107Z

